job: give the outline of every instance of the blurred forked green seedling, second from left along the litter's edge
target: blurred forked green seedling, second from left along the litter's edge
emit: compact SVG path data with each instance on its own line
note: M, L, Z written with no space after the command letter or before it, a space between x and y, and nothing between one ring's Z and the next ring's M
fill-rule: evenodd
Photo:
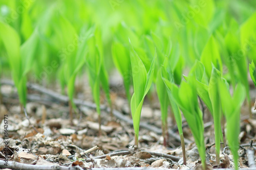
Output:
M70 122L73 124L73 108L76 108L73 103L76 75L86 62L85 56L88 52L86 43L87 39L93 34L93 29L88 29L86 31L83 29L78 36L71 23L62 16L59 17L55 27L59 29L57 35L59 36L62 46L65 48L68 48L69 46L74 47L74 50L66 53L66 57L63 58L63 64L59 72L59 80L62 89L67 86Z

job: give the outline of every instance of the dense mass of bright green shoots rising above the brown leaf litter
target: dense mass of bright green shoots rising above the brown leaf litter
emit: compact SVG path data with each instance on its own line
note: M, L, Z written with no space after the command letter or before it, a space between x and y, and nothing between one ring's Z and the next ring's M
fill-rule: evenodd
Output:
M161 98L163 126L166 126L168 98L175 105L173 109L179 117L179 127L178 106L186 112L185 117L197 116L198 129L193 131L204 159L202 116L197 95L218 121L220 105L225 100L235 101L230 104L230 111L223 108L226 117L230 117L231 111L239 112L240 107L234 107L242 102L236 103L233 99L239 95L233 98L222 96L221 90L226 94L229 92L224 85L217 88L211 84L214 72L215 76L226 78L225 82L233 89L239 84L237 89L246 91L250 103L247 72L248 61L256 60L255 21L256 1L2 0L1 75L12 75L20 103L26 105L27 79L36 83L58 80L63 93L67 87L66 93L72 102L76 76L86 70L100 113L100 87L111 105L109 72L115 65L123 77L129 103L132 99L136 140L142 103L150 89L148 84L153 82ZM166 58L168 62L164 68L168 68L169 74L160 71ZM155 69L152 69L152 61ZM143 68L139 72L143 75L138 74L137 67ZM190 68L188 77L184 77L186 82L182 75ZM254 70L252 63L252 77ZM154 72L147 75L151 71ZM167 82L172 86L166 85ZM133 97L130 93L132 85ZM182 92L183 88L188 88L189 93ZM184 99L181 94L191 99ZM223 100L221 104L218 99ZM191 102L195 106L186 108L184 104ZM237 121L238 118L237 115L234 119ZM219 122L215 125L219 126ZM192 123L190 126L193 127ZM230 129L230 122L228 126ZM196 133L198 130L200 132ZM179 131L182 134L181 128ZM219 142L220 134L216 139ZM231 151L236 151L234 147L231 146Z

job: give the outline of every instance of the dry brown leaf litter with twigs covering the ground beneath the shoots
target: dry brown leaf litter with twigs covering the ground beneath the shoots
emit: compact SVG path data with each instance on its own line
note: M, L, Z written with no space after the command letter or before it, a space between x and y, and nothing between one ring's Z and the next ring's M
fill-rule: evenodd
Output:
M168 139L168 148L165 148L161 134L141 128L139 148L136 148L133 145L133 127L127 123L129 121L110 117L109 113L105 111L101 115L102 134L98 136L99 125L94 109L80 107L80 113L79 115L75 114L74 125L71 126L68 105L59 101L55 101L51 105L45 105L43 102L28 103L26 108L28 118L26 118L26 116L19 114L17 96L12 90L5 90L5 88L10 89L12 87L6 85L1 87L4 94L4 104L0 106L0 114L8 114L9 144L8 151L4 150L4 121L2 120L0 125L1 159L8 155L10 162L15 161L36 166L44 165L46 167L47 165L61 165L61 167L80 166L81 168L162 167L190 169L197 167L200 169L200 157L194 142L186 144L187 165L185 166L183 165L180 141L172 137ZM129 109L126 108L126 100L120 97L125 96L123 91L114 91L113 93L115 93L113 94L114 109L122 112L127 119L131 119L127 113ZM33 93L31 92L30 95ZM42 98L44 97L45 95L42 95ZM106 101L103 101L103 104L105 104L104 102ZM161 127L159 105L150 106L150 101L146 98L141 120L148 122L153 129L159 128ZM205 112L204 122L212 122L210 115L207 114L207 111ZM246 115L246 113L242 112L242 115ZM245 150L247 150L250 147L250 139L254 139L256 134L256 122L246 116L242 116L241 119L239 139L241 145L244 145ZM177 128L170 116L168 117L168 125L169 129ZM183 123L183 131L186 139L194 141L186 123ZM214 131L213 124L205 128L207 168L234 167L228 148L220 154L220 165L215 164L215 139L212 131ZM177 131L174 133L178 134ZM223 148L222 144L222 151ZM248 157L246 153L243 154L244 152L243 149L239 150L240 168L249 166ZM177 160L166 157L166 155L174 156Z

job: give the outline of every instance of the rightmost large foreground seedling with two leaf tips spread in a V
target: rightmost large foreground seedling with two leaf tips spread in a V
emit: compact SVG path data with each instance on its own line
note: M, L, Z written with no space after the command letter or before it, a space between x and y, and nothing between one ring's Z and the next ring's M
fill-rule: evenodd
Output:
M232 97L227 83L221 81L219 82L219 94L222 110L226 117L226 138L233 155L235 168L238 169L240 109L246 96L245 87L242 84L238 84Z

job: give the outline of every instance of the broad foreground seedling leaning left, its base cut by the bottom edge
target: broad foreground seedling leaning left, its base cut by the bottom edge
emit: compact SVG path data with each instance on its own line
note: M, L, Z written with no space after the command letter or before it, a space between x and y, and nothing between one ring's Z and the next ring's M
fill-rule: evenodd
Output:
M170 91L195 138L203 169L206 169L203 114L198 104L196 87L193 82L182 81L180 87L172 83L171 88Z

